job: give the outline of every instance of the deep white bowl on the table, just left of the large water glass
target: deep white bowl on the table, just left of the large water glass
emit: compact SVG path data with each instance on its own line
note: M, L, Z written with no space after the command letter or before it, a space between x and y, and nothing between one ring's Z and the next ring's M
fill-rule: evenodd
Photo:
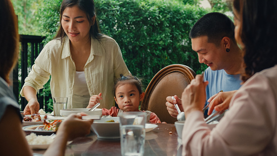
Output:
M105 122L114 120L115 122ZM94 120L91 125L98 138L120 138L119 117L101 117L100 120Z

